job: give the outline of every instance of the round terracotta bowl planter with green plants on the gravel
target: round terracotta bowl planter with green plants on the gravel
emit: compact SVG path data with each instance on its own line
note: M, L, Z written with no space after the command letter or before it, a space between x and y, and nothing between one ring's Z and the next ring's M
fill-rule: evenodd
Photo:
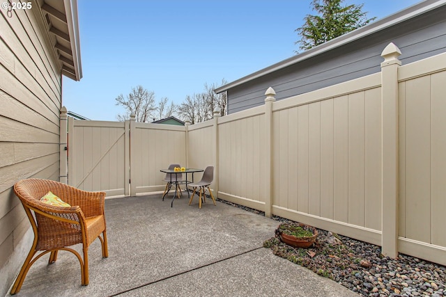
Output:
M289 246L309 248L316 241L318 231L315 227L302 223L282 223L277 227L276 234Z

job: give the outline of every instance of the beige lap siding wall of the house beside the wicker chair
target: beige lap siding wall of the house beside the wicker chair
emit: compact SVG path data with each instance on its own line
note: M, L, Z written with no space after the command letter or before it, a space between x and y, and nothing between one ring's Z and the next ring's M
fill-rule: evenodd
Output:
M11 265L8 257L29 228L13 184L59 179L61 72L39 13L33 7L7 17L0 10L0 267ZM10 279L1 287L3 281Z

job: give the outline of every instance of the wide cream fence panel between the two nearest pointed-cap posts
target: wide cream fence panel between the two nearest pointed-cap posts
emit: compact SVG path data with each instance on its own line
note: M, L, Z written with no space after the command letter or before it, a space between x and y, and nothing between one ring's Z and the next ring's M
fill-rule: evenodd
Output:
M380 244L380 122L380 74L275 102L272 212Z

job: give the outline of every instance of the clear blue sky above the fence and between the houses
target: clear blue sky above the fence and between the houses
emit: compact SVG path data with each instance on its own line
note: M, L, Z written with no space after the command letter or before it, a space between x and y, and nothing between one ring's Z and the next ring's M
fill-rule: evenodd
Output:
M418 0L364 3L386 17ZM141 85L176 104L204 84L231 82L294 55L311 0L77 0L83 77L63 77L63 105L91 120L124 113L118 95Z

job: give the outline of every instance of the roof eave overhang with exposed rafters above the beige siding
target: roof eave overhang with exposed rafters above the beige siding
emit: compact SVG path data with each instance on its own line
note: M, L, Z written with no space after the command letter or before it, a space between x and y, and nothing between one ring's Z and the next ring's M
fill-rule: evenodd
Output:
M62 74L70 79L82 79L77 0L38 0L47 32L59 57Z

